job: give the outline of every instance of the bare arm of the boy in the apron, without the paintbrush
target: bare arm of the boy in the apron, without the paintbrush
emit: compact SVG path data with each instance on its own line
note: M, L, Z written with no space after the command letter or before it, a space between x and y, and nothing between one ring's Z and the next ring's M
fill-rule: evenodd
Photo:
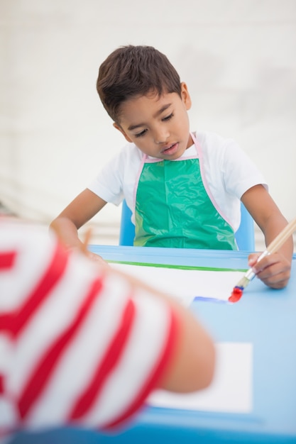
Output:
M50 228L69 250L83 250L83 243L78 236L78 229L87 223L104 206L106 201L89 189L84 189L75 199L50 223ZM87 255L93 260L102 258L92 252Z

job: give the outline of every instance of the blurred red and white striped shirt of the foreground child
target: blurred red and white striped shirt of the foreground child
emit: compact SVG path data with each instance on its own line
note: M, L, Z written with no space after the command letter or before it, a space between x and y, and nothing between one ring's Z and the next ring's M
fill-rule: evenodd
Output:
M168 367L177 319L43 228L0 226L0 430L119 426ZM5 353L1 353L1 349Z

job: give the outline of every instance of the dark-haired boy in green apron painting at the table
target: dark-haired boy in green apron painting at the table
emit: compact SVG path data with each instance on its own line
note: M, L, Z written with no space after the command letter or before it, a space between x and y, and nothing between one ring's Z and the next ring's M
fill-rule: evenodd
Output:
M287 221L267 191L263 177L234 141L190 131L187 85L155 48L118 48L99 68L97 91L114 127L128 145L51 224L80 244L77 229L106 202L123 198L133 212L134 245L236 249L240 200L268 245ZM274 255L256 263L270 287L290 277L292 238Z

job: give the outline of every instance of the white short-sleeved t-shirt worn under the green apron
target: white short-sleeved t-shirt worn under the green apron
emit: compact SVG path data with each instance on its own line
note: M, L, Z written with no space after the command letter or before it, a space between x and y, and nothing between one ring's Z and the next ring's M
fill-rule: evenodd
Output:
M199 165L204 187L221 216L236 231L241 222L241 196L258 184L267 188L263 175L234 140L222 138L215 133L195 133L195 137L199 147ZM195 152L196 148L192 145L182 157L190 157ZM134 143L128 143L88 186L106 202L119 205L126 199L133 212L133 223L135 187L142 159L143 152Z

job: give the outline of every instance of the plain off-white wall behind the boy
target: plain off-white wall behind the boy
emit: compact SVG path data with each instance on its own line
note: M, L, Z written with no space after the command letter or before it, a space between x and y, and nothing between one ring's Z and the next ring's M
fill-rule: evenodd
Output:
M121 148L95 84L129 43L168 55L192 130L236 138L296 216L295 0L1 0L0 201L48 223ZM119 217L96 216L102 243Z

